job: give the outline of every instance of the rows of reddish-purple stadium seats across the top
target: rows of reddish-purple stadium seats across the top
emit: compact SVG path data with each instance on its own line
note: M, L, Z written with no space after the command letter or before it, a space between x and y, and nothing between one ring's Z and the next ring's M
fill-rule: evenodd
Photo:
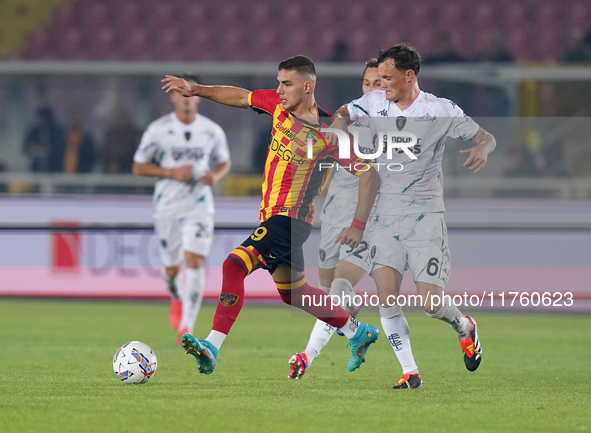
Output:
M447 31L462 57L502 30L518 61L556 61L568 32L591 26L588 0L373 0L276 4L270 0L72 0L54 6L13 57L25 59L276 61L307 53L326 61L346 43L359 61L400 40L424 57ZM539 31L543 29L543 31ZM567 32L567 29L568 30Z

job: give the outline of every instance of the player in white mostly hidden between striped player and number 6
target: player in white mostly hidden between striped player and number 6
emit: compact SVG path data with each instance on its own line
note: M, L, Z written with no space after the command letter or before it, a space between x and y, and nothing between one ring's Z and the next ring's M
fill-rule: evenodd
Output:
M380 77L378 75L378 61L373 58L365 64L362 75L363 94L378 90ZM362 152L369 153L362 146L371 145L371 136L366 127L351 125L349 131L357 131L359 134L359 146ZM373 149L370 151L373 153ZM369 271L371 259L369 257L370 245L367 233L357 248L341 245L335 242L338 234L346 229L355 216L357 206L357 194L359 178L351 175L341 168L333 169L333 177L326 193L326 200L320 216L322 226L320 229L320 250L318 257L318 279L320 288L331 295L354 296L353 287ZM370 216L371 220L371 216ZM337 266L338 265L338 266ZM345 306L349 313L359 311L360 306ZM306 369L310 368L314 358L328 341L335 328L317 320L310 334L306 350L292 355L289 360L291 368L288 378L300 379Z

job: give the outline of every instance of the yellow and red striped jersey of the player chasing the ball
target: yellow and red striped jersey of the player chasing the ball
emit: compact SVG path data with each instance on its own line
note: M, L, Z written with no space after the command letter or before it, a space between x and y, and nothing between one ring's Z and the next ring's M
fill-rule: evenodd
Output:
M321 170L319 164L338 161L349 172L359 175L367 170L367 161L353 152L350 159L339 159L339 148L327 144L320 133L320 128L330 126L332 116L318 106L317 123L310 123L309 119L300 119L284 110L275 90L251 92L248 104L258 113L273 116L263 175L260 221L273 215L285 215L313 224L314 198L322 192L330 175L330 169L323 166ZM313 143L313 158L308 158L309 137Z

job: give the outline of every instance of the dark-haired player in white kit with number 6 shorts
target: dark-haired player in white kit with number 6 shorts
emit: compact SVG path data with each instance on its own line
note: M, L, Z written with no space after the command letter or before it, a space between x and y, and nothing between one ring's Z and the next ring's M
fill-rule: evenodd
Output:
M376 249L372 277L380 298L382 327L403 370L395 389L423 386L410 347L408 323L400 305L393 302L407 268L413 273L425 313L448 323L458 334L466 368L474 371L482 360L476 321L464 316L453 303L433 302L433 296L441 299L450 272L440 173L446 137L476 144L460 151L469 155L464 166L475 173L486 164L496 141L455 103L419 89L420 64L418 52L408 44L381 51L378 72L383 91L341 107L333 125L345 130L347 123L358 121L369 124L372 135L402 131L417 137L412 147L398 146L390 159L386 152L377 158L377 163L398 163L404 168L379 171L380 195L369 230L372 248ZM384 146L388 144L386 140ZM415 158L404 150L412 151Z

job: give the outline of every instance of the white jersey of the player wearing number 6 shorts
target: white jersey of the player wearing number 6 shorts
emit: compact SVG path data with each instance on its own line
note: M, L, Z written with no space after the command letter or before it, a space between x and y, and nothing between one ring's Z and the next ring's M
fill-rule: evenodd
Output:
M404 111L381 90L363 95L347 108L351 120L370 127L374 142L381 137L382 154L374 164L380 174L378 215L445 211L440 173L446 137L469 140L478 132L478 124L452 101L425 92ZM417 142L408 149L417 159L400 148L388 158L387 133L394 140L408 140L414 134Z

